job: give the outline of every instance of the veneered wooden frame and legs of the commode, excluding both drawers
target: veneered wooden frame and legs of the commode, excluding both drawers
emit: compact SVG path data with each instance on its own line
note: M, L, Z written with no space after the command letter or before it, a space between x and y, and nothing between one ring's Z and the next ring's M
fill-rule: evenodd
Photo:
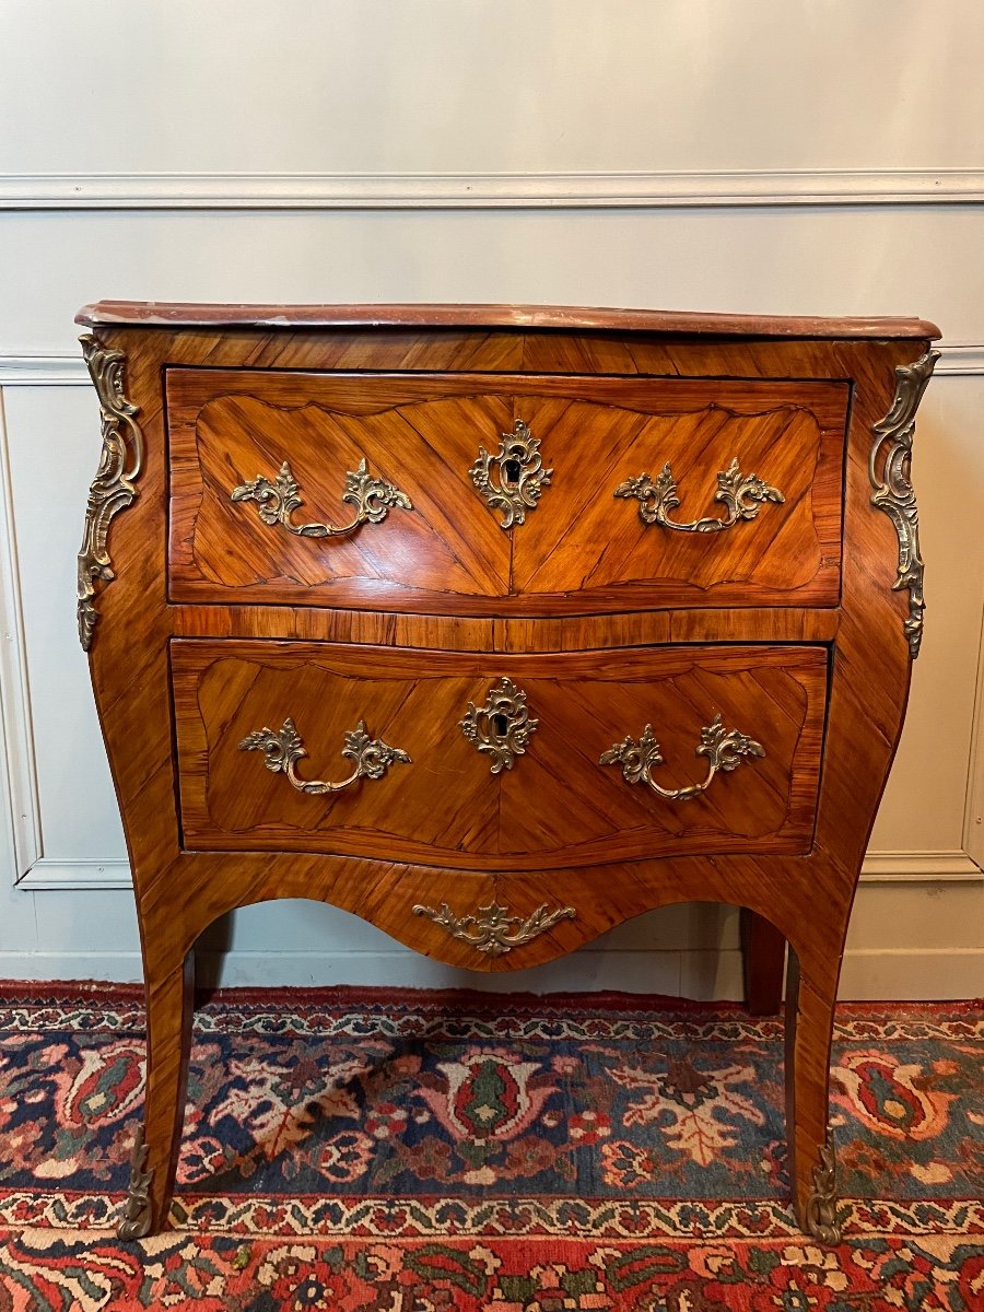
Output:
M236 314L241 316L243 311L228 318ZM112 311L105 315L112 318ZM483 971L535 966L575 950L631 916L674 901L727 901L766 917L791 949L787 1128L794 1199L806 1223L813 1170L827 1138L830 1018L848 918L899 740L911 670L903 635L908 601L904 593L892 590L899 544L888 517L871 505L867 459L872 426L892 400L895 367L914 361L935 331L909 321L905 328L896 325L900 337L892 340L887 328L870 337L866 331L828 321L825 331L807 338L798 321L771 329L758 321L753 337L722 332L701 336L695 328L681 337L666 321L664 332L653 321L648 329L634 327L631 318L609 320L605 329L586 319L568 329L560 324L523 327L517 320L508 323L508 316L499 324L483 321L476 327L467 312L457 320L438 316L426 328L420 327L420 320L417 325L400 320L391 328L373 328L359 327L371 321L363 308L348 319L338 314L333 320L337 327L323 328L304 325L303 315L295 323L235 328L202 325L201 315L198 323L185 324L161 325L161 318L167 316L148 307L139 327L98 329L105 345L118 346L127 356L127 394L139 407L147 458L135 502L112 525L117 577L100 594L101 618L89 653L134 869L151 1004L146 1138L154 1176L146 1224L164 1224L173 1181L184 1097L182 1046L188 1031L182 1009L189 954L216 917L272 897L331 901L416 951ZM745 324L743 331L752 328ZM774 336L761 336L769 331ZM836 384L848 380L853 403L842 466L838 605L828 610L689 606L648 614L626 606L626 614L567 618L539 611L529 617L492 613L474 618L467 607L461 614L420 617L358 614L352 607L335 613L324 602L310 610L297 602L174 605L167 593L168 462L161 375L165 369L203 365L224 370L810 379L811 386L824 379ZM172 639L180 635L223 646L258 638L300 638L388 648L429 647L451 660L470 656L483 670L489 652L523 659L539 652L537 659L546 660L551 653L579 647L597 652L607 644L638 646L644 656L647 647L661 643L830 643L813 844L806 855L745 850L571 866L563 871L563 900L576 908L577 917L558 922L509 954L480 956L438 925L415 916L413 907L447 901L454 913L468 914L497 899L510 914L529 916L543 903L558 904L556 870L539 863L521 871L422 866L407 862L400 851L383 859L283 850L182 850L169 676L169 652L177 646ZM680 748L684 754L690 750ZM668 757L674 762L682 758L676 747ZM743 765L733 782L740 783L741 771L752 769Z

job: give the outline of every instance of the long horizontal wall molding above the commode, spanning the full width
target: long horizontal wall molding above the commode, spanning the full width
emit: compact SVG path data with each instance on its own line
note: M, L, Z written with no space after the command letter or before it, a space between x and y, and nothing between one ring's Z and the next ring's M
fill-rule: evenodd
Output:
M968 205L984 169L8 173L4 210L474 210Z

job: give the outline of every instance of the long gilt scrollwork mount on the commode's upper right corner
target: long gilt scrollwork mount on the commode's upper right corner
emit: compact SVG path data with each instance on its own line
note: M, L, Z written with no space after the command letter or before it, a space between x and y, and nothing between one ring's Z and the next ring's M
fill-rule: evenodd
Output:
M933 375L938 350L928 350L912 365L899 365L895 370L895 398L886 417L874 425L875 440L869 458L869 479L874 492L871 504L890 517L899 535L899 573L892 588L909 590L909 618L903 622L903 632L909 643L912 660L920 653L922 642L922 615L926 609L922 596L922 556L920 555L920 521L916 492L909 482L912 437L916 430L916 411ZM879 478L875 468L878 454L888 442L884 470Z

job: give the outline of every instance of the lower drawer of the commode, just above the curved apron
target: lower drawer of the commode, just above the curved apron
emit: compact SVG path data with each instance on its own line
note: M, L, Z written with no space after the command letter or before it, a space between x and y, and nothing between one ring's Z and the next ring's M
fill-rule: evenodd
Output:
M827 668L823 647L177 639L185 848L461 870L806 853Z

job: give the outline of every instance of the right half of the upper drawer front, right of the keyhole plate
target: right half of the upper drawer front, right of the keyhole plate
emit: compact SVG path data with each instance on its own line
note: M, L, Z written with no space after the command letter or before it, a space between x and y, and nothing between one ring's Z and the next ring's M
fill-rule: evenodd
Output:
M708 379L568 380L523 398L555 474L535 525L513 534L513 590L551 610L836 605L846 404L837 383ZM715 531L732 462L782 500L750 501L753 518ZM699 531L647 523L638 499L614 496L664 466L680 502L669 521Z

